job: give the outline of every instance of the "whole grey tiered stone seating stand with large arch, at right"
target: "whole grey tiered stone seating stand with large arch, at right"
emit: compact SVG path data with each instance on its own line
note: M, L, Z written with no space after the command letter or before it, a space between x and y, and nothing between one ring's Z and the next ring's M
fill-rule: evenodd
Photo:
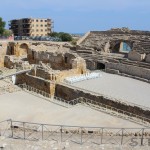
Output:
M150 82L149 31L90 31L77 42L76 52L86 60L88 69L105 69Z

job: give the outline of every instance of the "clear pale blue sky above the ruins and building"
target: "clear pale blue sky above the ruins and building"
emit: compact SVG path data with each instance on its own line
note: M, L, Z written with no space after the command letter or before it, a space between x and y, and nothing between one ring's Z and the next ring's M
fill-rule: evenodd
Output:
M150 0L2 0L6 22L23 17L52 18L54 31L85 33L114 27L150 30Z

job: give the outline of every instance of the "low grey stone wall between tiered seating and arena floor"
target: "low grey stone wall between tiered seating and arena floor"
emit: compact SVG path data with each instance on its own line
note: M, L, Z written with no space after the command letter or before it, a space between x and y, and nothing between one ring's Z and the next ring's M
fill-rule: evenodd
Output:
M112 62L107 62L105 65L106 69L115 69L119 70L120 73L125 73L150 80L150 69Z

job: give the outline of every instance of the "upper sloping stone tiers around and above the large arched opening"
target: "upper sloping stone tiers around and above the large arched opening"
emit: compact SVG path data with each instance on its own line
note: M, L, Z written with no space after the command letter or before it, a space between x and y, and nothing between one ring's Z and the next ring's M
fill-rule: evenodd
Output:
M80 41L79 47L94 48L98 51L113 52L119 42L126 42L132 50L150 53L150 32L134 30L91 31Z

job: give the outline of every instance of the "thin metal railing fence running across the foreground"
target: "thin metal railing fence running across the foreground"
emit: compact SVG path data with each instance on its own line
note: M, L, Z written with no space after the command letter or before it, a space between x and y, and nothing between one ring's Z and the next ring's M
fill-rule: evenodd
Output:
M150 128L107 128L39 124L6 120L0 122L0 135L29 141L68 141L74 144L148 145ZM133 141L134 139L134 141Z

